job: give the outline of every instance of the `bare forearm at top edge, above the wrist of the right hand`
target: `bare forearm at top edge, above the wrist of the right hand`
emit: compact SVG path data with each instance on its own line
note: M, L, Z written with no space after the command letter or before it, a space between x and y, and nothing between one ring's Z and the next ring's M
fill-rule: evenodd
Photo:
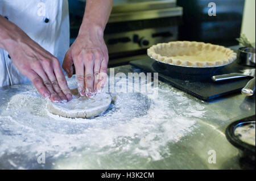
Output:
M112 10L113 0L87 0L79 35L95 31L103 36Z

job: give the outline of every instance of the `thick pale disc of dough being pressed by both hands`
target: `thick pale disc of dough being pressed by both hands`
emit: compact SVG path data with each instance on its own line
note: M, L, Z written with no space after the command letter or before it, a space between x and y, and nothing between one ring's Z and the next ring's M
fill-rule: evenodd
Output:
M47 100L46 109L53 115L68 118L90 118L105 112L112 97L109 94L100 92L92 97L82 97L77 89L71 90L73 99L66 103L54 103Z

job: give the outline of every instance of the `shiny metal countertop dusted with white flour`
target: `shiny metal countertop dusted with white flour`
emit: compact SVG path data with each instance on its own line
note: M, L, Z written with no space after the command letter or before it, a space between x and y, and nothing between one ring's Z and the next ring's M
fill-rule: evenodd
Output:
M75 88L75 77L68 84ZM47 113L47 100L31 84L2 87L0 169L240 169L224 132L254 115L255 100L233 95L207 103L162 82L158 94L110 93L101 116L67 119ZM208 163L209 150L216 164Z

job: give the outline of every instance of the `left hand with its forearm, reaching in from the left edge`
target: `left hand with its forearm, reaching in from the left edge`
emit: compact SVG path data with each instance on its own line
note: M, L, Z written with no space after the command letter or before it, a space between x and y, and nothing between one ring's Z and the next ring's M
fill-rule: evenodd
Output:
M44 98L60 102L72 94L56 57L0 16L0 48L9 52L16 68L26 75Z

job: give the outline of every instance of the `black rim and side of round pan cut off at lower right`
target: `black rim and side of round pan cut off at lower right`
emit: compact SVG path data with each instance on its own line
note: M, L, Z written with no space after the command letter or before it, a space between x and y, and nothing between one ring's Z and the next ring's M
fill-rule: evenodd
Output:
M247 161L255 165L255 146L243 142L234 134L234 131L236 130L237 127L241 127L243 125L251 123L255 124L255 121L235 121L226 128L226 138L233 146L240 150L240 156L242 158L246 158Z

